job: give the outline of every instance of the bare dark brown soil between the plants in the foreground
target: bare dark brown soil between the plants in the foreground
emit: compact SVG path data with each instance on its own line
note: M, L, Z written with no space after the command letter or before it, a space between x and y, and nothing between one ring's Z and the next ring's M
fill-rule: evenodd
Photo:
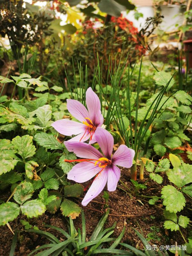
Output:
M145 174L145 177L147 177L147 174ZM133 185L130 182L129 170L125 168L122 169L121 180L130 190L133 189ZM146 178L145 180L138 180L138 182L144 183L147 180L148 178ZM145 196L161 196L161 188L165 184L168 184L168 181L165 177L164 183L162 183L161 185L158 185L152 180L148 180L146 183L147 188L141 191L139 195L142 195L143 193ZM142 196L130 197L127 193L120 189L126 189L120 182L118 183L118 187L119 188L117 188L116 191L109 192L110 197L108 205L111 215L108 216L105 224L105 228L108 228L111 227L115 221L117 222L113 237L117 237L121 233L124 225L126 225L126 230L122 241L133 246L142 248L142 243L140 242L140 239L135 234L132 227L136 228L140 232L140 228L142 228L142 232L145 238L148 238L148 234L152 233L152 237L149 243L157 244L158 247L160 245L175 245L175 242L177 242L178 245L184 244L184 241L180 236L179 231L166 231L165 234L165 229L163 227L163 210L161 209L163 205L161 204L161 200L157 202L158 207L154 205L149 205L148 200L150 198ZM102 213L105 211L104 199L102 195L103 192L94 199L99 203L92 201L87 205L87 207L84 207L87 240L89 240L92 231L100 220ZM4 196L4 198L2 199L5 200L6 197L8 198L9 195ZM78 203L79 205L81 205L80 199L78 200ZM190 208L190 204L188 203L188 201L186 206ZM181 214L190 217L190 212L188 212L187 207L184 208ZM20 224L20 220L26 220L26 217L20 216L16 220L10 222L10 226L13 231L15 231L16 228L18 228L19 230L23 228L23 225ZM63 241L65 237L56 230L45 228L44 225L49 224L59 228L63 228L65 231L68 231L66 226L66 219L62 216L60 211L58 211L56 214L50 214L48 212L45 212L45 214L40 216L37 220L31 220L30 224L36 225L41 230L51 232L54 236L60 239L60 241ZM74 225L76 229L81 228L81 217L77 217L76 220L74 220ZM151 229L151 227L154 226L156 227L155 231ZM189 229L182 228L181 230L186 238L188 237L188 235L191 235L189 234L191 232ZM0 227L0 234L0 256L9 255L13 235L7 226ZM34 233L20 232L20 241L17 243L14 255L27 256L28 253L34 250L37 246L43 245L45 243L48 243L48 240L46 240L44 237L41 237Z

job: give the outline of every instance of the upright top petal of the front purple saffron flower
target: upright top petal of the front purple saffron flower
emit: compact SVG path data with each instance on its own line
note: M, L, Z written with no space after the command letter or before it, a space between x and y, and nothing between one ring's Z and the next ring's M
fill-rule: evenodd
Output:
M97 140L103 154L108 159L111 159L114 140L110 132L101 127L97 127L95 131L95 139Z

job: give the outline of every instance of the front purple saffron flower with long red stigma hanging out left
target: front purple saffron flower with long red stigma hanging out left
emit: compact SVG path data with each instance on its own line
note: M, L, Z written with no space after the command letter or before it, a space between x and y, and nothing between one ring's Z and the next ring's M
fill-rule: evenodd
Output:
M84 206L100 194L106 183L108 191L115 191L121 173L116 165L130 168L135 155L133 149L128 148L125 145L120 145L112 156L114 144L113 136L101 127L97 128L95 139L97 140L103 155L99 150L87 143L72 141L64 142L68 151L74 152L76 156L83 158L77 160L65 159L65 162L69 163L79 162L79 164L76 164L68 173L68 179L83 183L96 175L82 201Z

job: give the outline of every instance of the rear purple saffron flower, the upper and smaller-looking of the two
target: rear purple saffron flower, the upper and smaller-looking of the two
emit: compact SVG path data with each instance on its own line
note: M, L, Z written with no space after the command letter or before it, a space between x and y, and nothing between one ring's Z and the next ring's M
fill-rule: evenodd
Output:
M79 122L69 119L61 119L52 123L55 130L63 135L77 135L68 141L84 142L90 138L89 144L95 143L95 131L97 127L103 124L103 116L101 114L100 100L92 88L86 91L86 105L78 100L67 100L67 109Z

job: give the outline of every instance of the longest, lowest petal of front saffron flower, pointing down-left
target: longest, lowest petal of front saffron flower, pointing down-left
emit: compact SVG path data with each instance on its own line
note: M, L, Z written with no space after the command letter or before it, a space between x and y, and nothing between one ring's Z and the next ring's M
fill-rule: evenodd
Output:
M98 196L107 183L108 173L106 170L103 170L93 181L91 187L87 191L82 204L86 206L93 198Z

